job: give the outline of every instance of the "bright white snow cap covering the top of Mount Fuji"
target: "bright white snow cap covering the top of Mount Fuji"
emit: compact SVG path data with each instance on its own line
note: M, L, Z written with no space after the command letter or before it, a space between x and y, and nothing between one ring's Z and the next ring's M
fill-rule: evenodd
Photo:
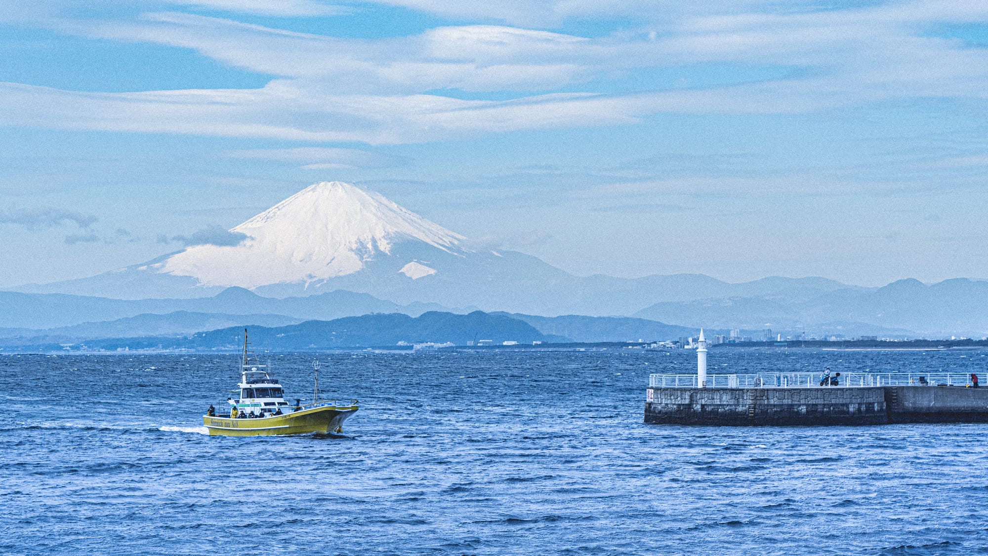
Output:
M159 265L204 286L258 286L335 278L364 268L396 243L427 243L460 253L464 238L342 181L322 181L233 228L242 243L194 245Z

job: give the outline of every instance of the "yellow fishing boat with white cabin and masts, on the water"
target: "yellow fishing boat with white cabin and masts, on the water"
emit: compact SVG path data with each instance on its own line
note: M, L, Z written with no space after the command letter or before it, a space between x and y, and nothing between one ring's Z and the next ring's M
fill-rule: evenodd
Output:
M244 350L240 361L240 397L226 398L229 414L217 415L210 405L203 424L212 436L257 437L267 435L304 435L308 433L342 433L343 422L357 412L356 399L342 405L337 400L319 400L319 365L314 362L316 382L313 403L294 406L285 401L282 384L271 375L267 365L261 365L249 349L244 329Z

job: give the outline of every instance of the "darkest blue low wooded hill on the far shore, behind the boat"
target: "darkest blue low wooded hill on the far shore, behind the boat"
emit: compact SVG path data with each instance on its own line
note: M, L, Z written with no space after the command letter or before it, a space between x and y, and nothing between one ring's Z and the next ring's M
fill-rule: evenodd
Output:
M542 334L530 324L501 314L473 312L469 314L428 312L418 317L407 314L365 314L334 320L308 320L288 326L250 328L251 342L256 349L270 351L306 351L336 348L386 347L398 342L452 342L466 345L477 339L502 343L513 340L531 344L565 342L569 338ZM228 327L197 332L186 337L150 336L137 338L95 339L72 342L71 349L109 350L236 350L243 341L243 327ZM15 345L0 339L4 351L57 351L63 345Z

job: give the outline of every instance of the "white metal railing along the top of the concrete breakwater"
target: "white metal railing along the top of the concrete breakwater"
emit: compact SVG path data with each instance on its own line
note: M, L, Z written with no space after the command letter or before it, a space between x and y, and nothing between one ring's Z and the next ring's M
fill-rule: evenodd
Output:
M841 373L826 383L823 373L745 373L707 375L708 388L817 388L817 387L869 387L869 386L969 386L967 373ZM697 375L648 376L648 385L659 388L696 388Z

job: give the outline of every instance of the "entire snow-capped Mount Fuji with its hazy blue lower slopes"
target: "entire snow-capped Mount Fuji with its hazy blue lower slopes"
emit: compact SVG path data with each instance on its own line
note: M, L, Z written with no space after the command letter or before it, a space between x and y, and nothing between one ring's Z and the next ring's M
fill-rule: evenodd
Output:
M275 298L346 290L402 305L555 313L581 280L520 252L470 249L459 234L340 181L306 187L230 233L242 241L17 291L136 300L207 297L233 286Z

